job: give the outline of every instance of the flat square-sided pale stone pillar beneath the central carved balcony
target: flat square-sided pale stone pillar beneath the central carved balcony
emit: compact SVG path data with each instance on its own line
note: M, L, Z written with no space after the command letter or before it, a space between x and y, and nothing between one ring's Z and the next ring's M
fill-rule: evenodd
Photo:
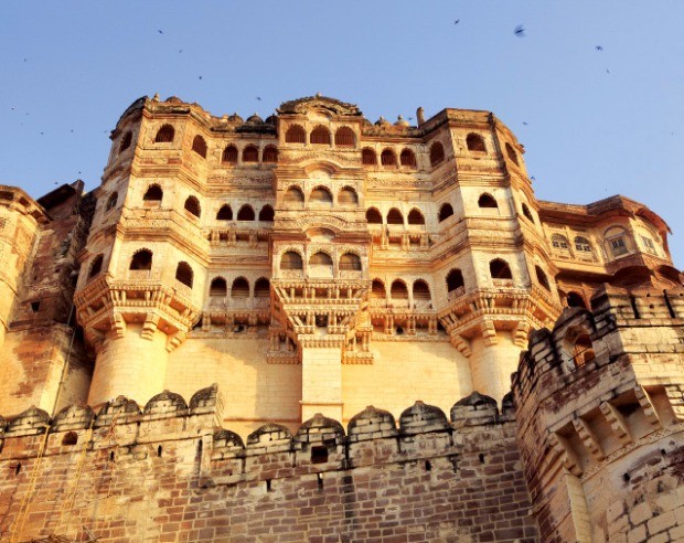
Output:
M342 420L342 349L301 350L301 419L317 413Z

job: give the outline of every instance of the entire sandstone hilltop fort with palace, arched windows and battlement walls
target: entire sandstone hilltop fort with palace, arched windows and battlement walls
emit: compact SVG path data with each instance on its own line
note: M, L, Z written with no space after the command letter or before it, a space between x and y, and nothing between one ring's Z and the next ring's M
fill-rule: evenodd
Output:
M143 97L0 187L0 540L684 541L667 225L416 118Z

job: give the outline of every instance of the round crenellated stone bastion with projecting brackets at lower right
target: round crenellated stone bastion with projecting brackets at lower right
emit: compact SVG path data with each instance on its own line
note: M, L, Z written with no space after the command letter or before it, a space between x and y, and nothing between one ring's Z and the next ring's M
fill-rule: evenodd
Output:
M606 286L591 307L568 308L553 330L533 332L512 377L542 536L670 533L676 522L661 529L649 519L681 504L684 290Z

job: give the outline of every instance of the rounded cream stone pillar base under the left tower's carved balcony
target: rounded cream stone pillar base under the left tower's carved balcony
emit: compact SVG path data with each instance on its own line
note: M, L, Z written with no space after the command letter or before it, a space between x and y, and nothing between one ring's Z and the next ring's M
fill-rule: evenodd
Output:
M122 333L109 331L97 351L88 404L97 407L124 395L143 406L163 391L169 352L167 334L129 323Z

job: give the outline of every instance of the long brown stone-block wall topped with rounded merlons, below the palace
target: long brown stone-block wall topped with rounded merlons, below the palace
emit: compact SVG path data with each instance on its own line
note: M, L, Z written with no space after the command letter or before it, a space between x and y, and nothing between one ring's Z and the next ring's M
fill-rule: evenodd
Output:
M316 415L246 439L217 427L223 405L214 385L189 403L164 392L142 409L119 397L0 419L0 537L538 541L510 403L473 393L449 419L416 402L398 424L367 407L346 433Z

